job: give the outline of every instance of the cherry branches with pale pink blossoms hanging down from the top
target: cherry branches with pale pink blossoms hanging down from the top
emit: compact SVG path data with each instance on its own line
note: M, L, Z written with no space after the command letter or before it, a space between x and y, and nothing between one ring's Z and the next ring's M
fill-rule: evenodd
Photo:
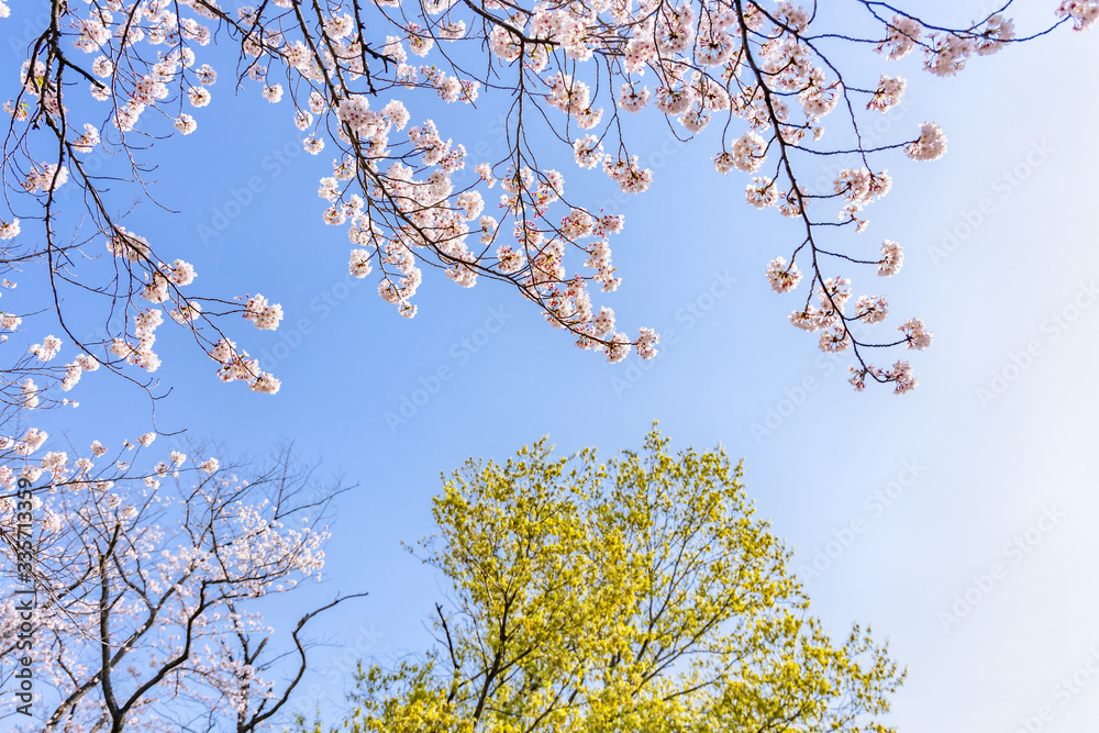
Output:
M790 322L815 333L821 349L852 354L856 389L869 379L907 392L917 385L911 365L875 364L869 354L922 349L932 335L914 316L892 336L867 335L877 330L863 326L889 318L888 300L861 286L867 295L852 303L851 279L897 274L902 246L889 238L867 246L851 235L865 229L866 207L890 190L887 162L934 160L946 152L946 134L930 121L895 141L862 134L904 92L903 76L888 66L953 76L1010 44L1088 29L1099 2L1051 0L1048 25L1026 34L1009 18L1012 0L961 26L888 2L848 4L857 31L837 27L835 13L822 18L815 3L786 0L52 0L4 107L3 266L45 266L53 297L25 310L52 308L85 359L132 379L131 367L155 371L155 333L171 320L222 380L277 391L278 378L237 346L241 336L226 332L224 319L244 315L273 330L281 308L258 293L200 295L186 252L167 252L155 235L123 224L130 209L121 197L148 189L159 138L189 135L218 89L243 85L271 102L276 120L302 131L307 152L332 157L317 215L346 233L351 274L375 278L401 314L415 314L430 266L462 287L481 278L510 285L579 347L611 362L631 349L651 358L658 334L628 335L613 310L592 300L593 290L619 287L610 243L623 218L568 195L566 175L543 163L555 146L570 148L576 175L601 171L642 193L653 173L639 165L636 126L626 118L647 114L682 138L720 127L703 143L717 171L745 177L747 206L800 224L800 237L766 269L778 292L808 279ZM219 82L225 76L232 80ZM425 98L504 104L506 153L471 159L445 122L423 119ZM831 119L840 132L826 135ZM97 151L115 164L109 176L86 165ZM807 182L814 156L852 155L857 166L828 187ZM458 186L454 175L465 168L477 177ZM66 188L79 196L64 198ZM66 209L84 218L68 238L58 227ZM67 329L63 303L75 292L102 302L102 338ZM4 327L21 316L5 312ZM76 371L88 363L71 364Z

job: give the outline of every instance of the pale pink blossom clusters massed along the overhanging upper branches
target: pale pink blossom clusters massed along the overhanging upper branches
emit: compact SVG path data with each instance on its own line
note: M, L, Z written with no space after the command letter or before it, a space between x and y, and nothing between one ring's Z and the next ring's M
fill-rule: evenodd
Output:
M400 16L386 10L398 8L397 0L375 5L326 0L306 14L281 12L296 7L290 0L259 9L166 0L66 8L62 36L87 54L88 63L66 60L58 67L59 56L51 53L29 58L20 73L22 92L4 108L15 121L30 124L33 115L44 114L66 127L66 153L56 162L25 165L23 187L48 195L74 175L82 187L92 187L78 156L104 145L106 135L132 151L126 135L162 132L158 116L166 115L181 135L193 133L219 77L206 63L217 60L208 46L223 30L247 62L241 85L254 85L277 109L289 108L287 118L303 133L306 152L335 148L332 174L320 178L318 195L322 220L346 226L352 275L376 277L379 296L406 316L417 312L413 298L424 262L440 266L464 288L482 276L508 281L541 306L551 324L570 331L578 346L602 349L612 362L621 358L623 344L643 358L656 353L655 334L642 329L631 341L606 329L606 319L597 321L597 311L606 307L590 302L591 285L603 292L619 285L607 235L620 231L622 220L607 222L602 212L566 200L566 176L537 163L532 140L560 140L571 146L581 170L601 171L622 191L642 193L652 188L654 171L630 152L621 113L654 108L686 137L720 121L714 168L751 176L745 184L748 204L777 209L807 229L789 265L778 258L767 268L779 292L795 289L802 277L797 265L801 248L811 251L812 269L806 274L821 287L835 279L821 268L830 257L845 256L818 245L814 232L821 222L811 216L810 203L836 200L841 224L862 232L868 225L863 209L890 189L888 174L869 162L879 151L862 142L857 153L863 164L842 170L831 189L811 190L798 180L793 151L833 152L814 147L824 138L830 115L850 113L857 132L853 101L885 112L901 102L907 82L886 74L870 80L845 78L812 41L815 13L790 0L531 7L490 1L477 8L433 1ZM954 76L974 57L1017 41L1013 22L1002 13L948 30L925 27L903 12L882 18L867 9L880 27L881 37L870 42L879 54L897 62L922 52L923 69L937 76ZM1099 15L1099 3L1063 0L1056 13L1085 30ZM488 54L486 70L456 63L452 44L480 44ZM200 54L207 57L200 59ZM66 74L74 70L81 73L80 84L91 81L91 97L110 109L106 125L64 114L60 80L73 78ZM861 74L855 69L851 76ZM515 86L502 92L515 103L507 116L509 151L500 159L471 160L469 151L434 120L408 126L414 112L407 104L418 95L471 104L485 89L499 93L506 86L500 79L513 77ZM543 122L550 135L528 134ZM935 160L946 152L946 137L926 122L914 138L880 149L888 148L900 148L914 160ZM457 175L467 167L477 178L458 185ZM491 211L488 191L497 182L502 192ZM98 219L109 218L107 209L98 213ZM0 222L0 237L18 232L18 219ZM192 329L213 318L196 300L178 298L178 288L193 279L187 263L163 265L146 241L121 226L104 233L113 254L146 270L146 299L173 300L174 320ZM845 257L877 264L880 275L891 275L900 265L899 249L880 260ZM804 258L801 265L806 268ZM847 316L836 313L843 325ZM874 323L877 314L872 309L856 318ZM244 315L257 327L273 330L282 314L278 306L249 299ZM822 347L847 343L850 334L839 335L837 330L844 331L839 325L823 329L831 335L822 337ZM145 330L146 341L151 332ZM221 354L215 341L207 343ZM859 344L852 343L857 352ZM145 368L156 364L140 343L130 351L118 346L115 354ZM255 373L243 356L227 359L219 360L223 379L248 378L254 388L258 382L257 391L274 391L270 385L277 381Z

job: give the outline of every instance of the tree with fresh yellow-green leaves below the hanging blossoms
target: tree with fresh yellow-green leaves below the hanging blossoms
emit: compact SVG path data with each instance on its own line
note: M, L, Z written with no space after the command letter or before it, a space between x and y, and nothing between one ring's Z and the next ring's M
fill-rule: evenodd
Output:
M654 426L606 463L552 452L444 476L420 543L453 587L437 645L360 667L345 730L891 730L888 644L858 625L837 644L809 614L721 447L671 455Z

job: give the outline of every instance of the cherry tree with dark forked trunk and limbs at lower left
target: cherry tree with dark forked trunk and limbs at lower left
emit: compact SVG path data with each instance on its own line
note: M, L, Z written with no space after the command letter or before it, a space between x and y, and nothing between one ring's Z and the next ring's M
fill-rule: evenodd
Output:
M307 624L353 596L311 608L281 638L263 599L286 603L320 576L338 481L318 481L288 445L240 463L198 443L149 456L147 433L33 457L47 437L5 438L0 456L0 685L20 689L23 668L35 678L33 704L3 713L13 730L278 722L307 671ZM27 588L30 604L16 592Z

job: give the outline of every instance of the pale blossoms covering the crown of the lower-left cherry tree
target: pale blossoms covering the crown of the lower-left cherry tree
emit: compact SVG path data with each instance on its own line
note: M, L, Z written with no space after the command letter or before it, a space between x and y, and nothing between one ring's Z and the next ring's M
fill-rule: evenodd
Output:
M0 435L0 526L25 522L27 502L35 523L33 565L21 558L16 571L14 545L0 546L11 560L0 586L14 598L33 581L53 599L36 609L26 654L35 677L62 692L53 715L68 730L95 730L109 714L99 686L82 687L102 670L103 613L113 674L148 682L127 725L162 730L158 703L173 699L201 704L209 720L255 713L277 677L255 647L241 653L242 643L274 631L252 602L319 578L324 567L330 532L314 513L323 502L299 499L292 473L276 471L291 478L270 484L267 469L255 467L248 481L236 473L252 467L223 466L181 445L157 459L148 453L154 441L155 433L137 435L109 456L97 440L74 456L71 447L47 448L49 436L36 427ZM284 465L291 468L289 456ZM30 499L20 479L32 484ZM19 624L18 613L4 614L0 643L14 644ZM186 663L173 663L186 649ZM242 676L254 689L242 689Z

